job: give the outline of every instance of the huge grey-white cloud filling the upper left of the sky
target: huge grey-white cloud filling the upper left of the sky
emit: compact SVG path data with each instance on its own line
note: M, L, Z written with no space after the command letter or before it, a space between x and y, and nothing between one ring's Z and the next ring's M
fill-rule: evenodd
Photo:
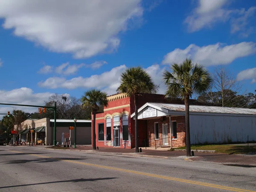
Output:
M117 49L119 32L142 15L140 0L1 0L0 6L4 29L75 58Z

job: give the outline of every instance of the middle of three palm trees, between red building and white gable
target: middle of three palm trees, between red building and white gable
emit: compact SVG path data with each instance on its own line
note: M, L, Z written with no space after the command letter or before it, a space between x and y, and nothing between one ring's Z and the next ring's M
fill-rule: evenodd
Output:
M156 87L148 75L148 73L141 67L131 67L121 75L121 82L118 91L126 93L128 96L134 96L135 106L135 152L139 152L138 143L138 108L137 108L137 94L150 93Z

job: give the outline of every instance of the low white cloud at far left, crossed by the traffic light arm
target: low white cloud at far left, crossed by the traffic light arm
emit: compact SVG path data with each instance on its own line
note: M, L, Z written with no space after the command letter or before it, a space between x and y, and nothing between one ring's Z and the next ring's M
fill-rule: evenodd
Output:
M34 93L32 89L21 87L14 90L0 90L0 103L12 103L21 105L44 105L44 101L49 99L52 93ZM21 109L28 113L37 112L38 108L21 107L12 105L0 105L0 113L12 112L13 109Z

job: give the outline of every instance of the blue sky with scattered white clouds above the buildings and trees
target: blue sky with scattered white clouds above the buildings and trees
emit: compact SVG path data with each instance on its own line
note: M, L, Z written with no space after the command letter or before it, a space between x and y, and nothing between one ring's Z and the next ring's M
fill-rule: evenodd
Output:
M218 64L256 89L254 0L0 0L0 102L43 104L52 93L115 93L127 67L160 84L186 57ZM8 108L0 108L5 113ZM30 109L28 109L30 110Z

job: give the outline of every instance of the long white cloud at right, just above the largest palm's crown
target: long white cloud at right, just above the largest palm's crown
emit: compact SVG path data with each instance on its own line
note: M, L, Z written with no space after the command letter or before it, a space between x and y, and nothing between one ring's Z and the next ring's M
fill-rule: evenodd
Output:
M164 56L162 64L180 63L185 58L191 58L194 62L205 66L230 64L236 58L241 58L256 52L256 44L253 42L241 42L239 44L226 45L221 43L199 47L191 44L186 49L175 49Z

